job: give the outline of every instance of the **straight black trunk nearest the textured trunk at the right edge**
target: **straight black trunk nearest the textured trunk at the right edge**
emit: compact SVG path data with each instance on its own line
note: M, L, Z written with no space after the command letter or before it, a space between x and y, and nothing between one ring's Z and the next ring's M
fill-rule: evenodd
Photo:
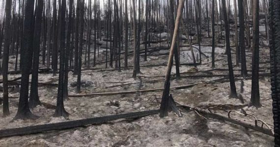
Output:
M253 41L252 41L252 93L250 105L261 107L259 98L259 0L253 0Z

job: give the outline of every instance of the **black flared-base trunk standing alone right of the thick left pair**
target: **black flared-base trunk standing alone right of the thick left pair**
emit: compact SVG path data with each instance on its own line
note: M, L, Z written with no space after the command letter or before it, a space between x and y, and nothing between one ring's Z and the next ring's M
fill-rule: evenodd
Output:
M61 1L60 6L60 49L59 49L59 75L58 75L58 89L57 89L57 100L56 100L56 111L54 117L68 118L69 113L64 109L63 104L63 83L64 83L64 59L65 59L65 13L66 11L66 0Z

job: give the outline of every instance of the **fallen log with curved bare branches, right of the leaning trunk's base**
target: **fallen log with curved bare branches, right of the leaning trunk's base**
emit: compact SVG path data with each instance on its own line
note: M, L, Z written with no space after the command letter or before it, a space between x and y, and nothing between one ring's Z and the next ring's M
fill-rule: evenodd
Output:
M238 124L238 125L250 128L252 130L264 133L264 134L269 135L269 136L274 136L274 133L271 130L263 128L263 127L260 127L260 126L257 126L255 124L248 123L248 122L245 122L245 121L241 121L241 120L238 120L238 119L228 118L228 117L226 117L226 116L224 116L222 114L211 113L211 112L208 112L208 111L205 111L205 110L202 110L202 109L198 109L196 107L192 107L192 106L189 106L189 105L181 104L179 102L176 102L176 103L179 104L179 105L177 105L178 107L183 107L183 108L185 108L187 110L196 110L196 112L198 112L198 113L201 113L201 114L213 117L213 118L217 118L219 120L223 120L223 121L226 121L226 122Z

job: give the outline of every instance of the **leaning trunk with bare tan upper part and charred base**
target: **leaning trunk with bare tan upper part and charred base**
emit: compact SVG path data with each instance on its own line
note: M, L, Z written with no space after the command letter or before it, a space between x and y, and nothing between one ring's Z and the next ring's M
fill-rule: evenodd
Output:
M175 27L174 27L173 37L172 37L172 43L171 43L171 48L170 48L169 57L168 57L168 69L167 69L167 73L166 73L166 77L165 77L164 91L163 91L163 97L162 97L162 102L161 102L161 107L160 107L160 117L161 118L168 116L170 74L171 74L171 69L172 69L173 54L175 51L174 48L176 45L176 39L177 39L177 33L178 33L177 30L180 25L181 13L183 11L184 2L185 2L185 0L180 0L178 10L177 10L177 16L176 16L176 22L175 22Z

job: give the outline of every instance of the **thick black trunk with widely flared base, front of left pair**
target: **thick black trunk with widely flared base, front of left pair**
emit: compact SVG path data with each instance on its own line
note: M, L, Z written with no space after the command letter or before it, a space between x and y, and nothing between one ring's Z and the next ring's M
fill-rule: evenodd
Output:
M20 100L17 114L14 120L22 119L37 119L38 116L31 113L28 105L28 87L29 87L29 72L31 69L30 58L32 58L32 43L33 43L33 13L34 0L27 0L25 7L25 21L24 21L24 37L22 48L22 78Z

